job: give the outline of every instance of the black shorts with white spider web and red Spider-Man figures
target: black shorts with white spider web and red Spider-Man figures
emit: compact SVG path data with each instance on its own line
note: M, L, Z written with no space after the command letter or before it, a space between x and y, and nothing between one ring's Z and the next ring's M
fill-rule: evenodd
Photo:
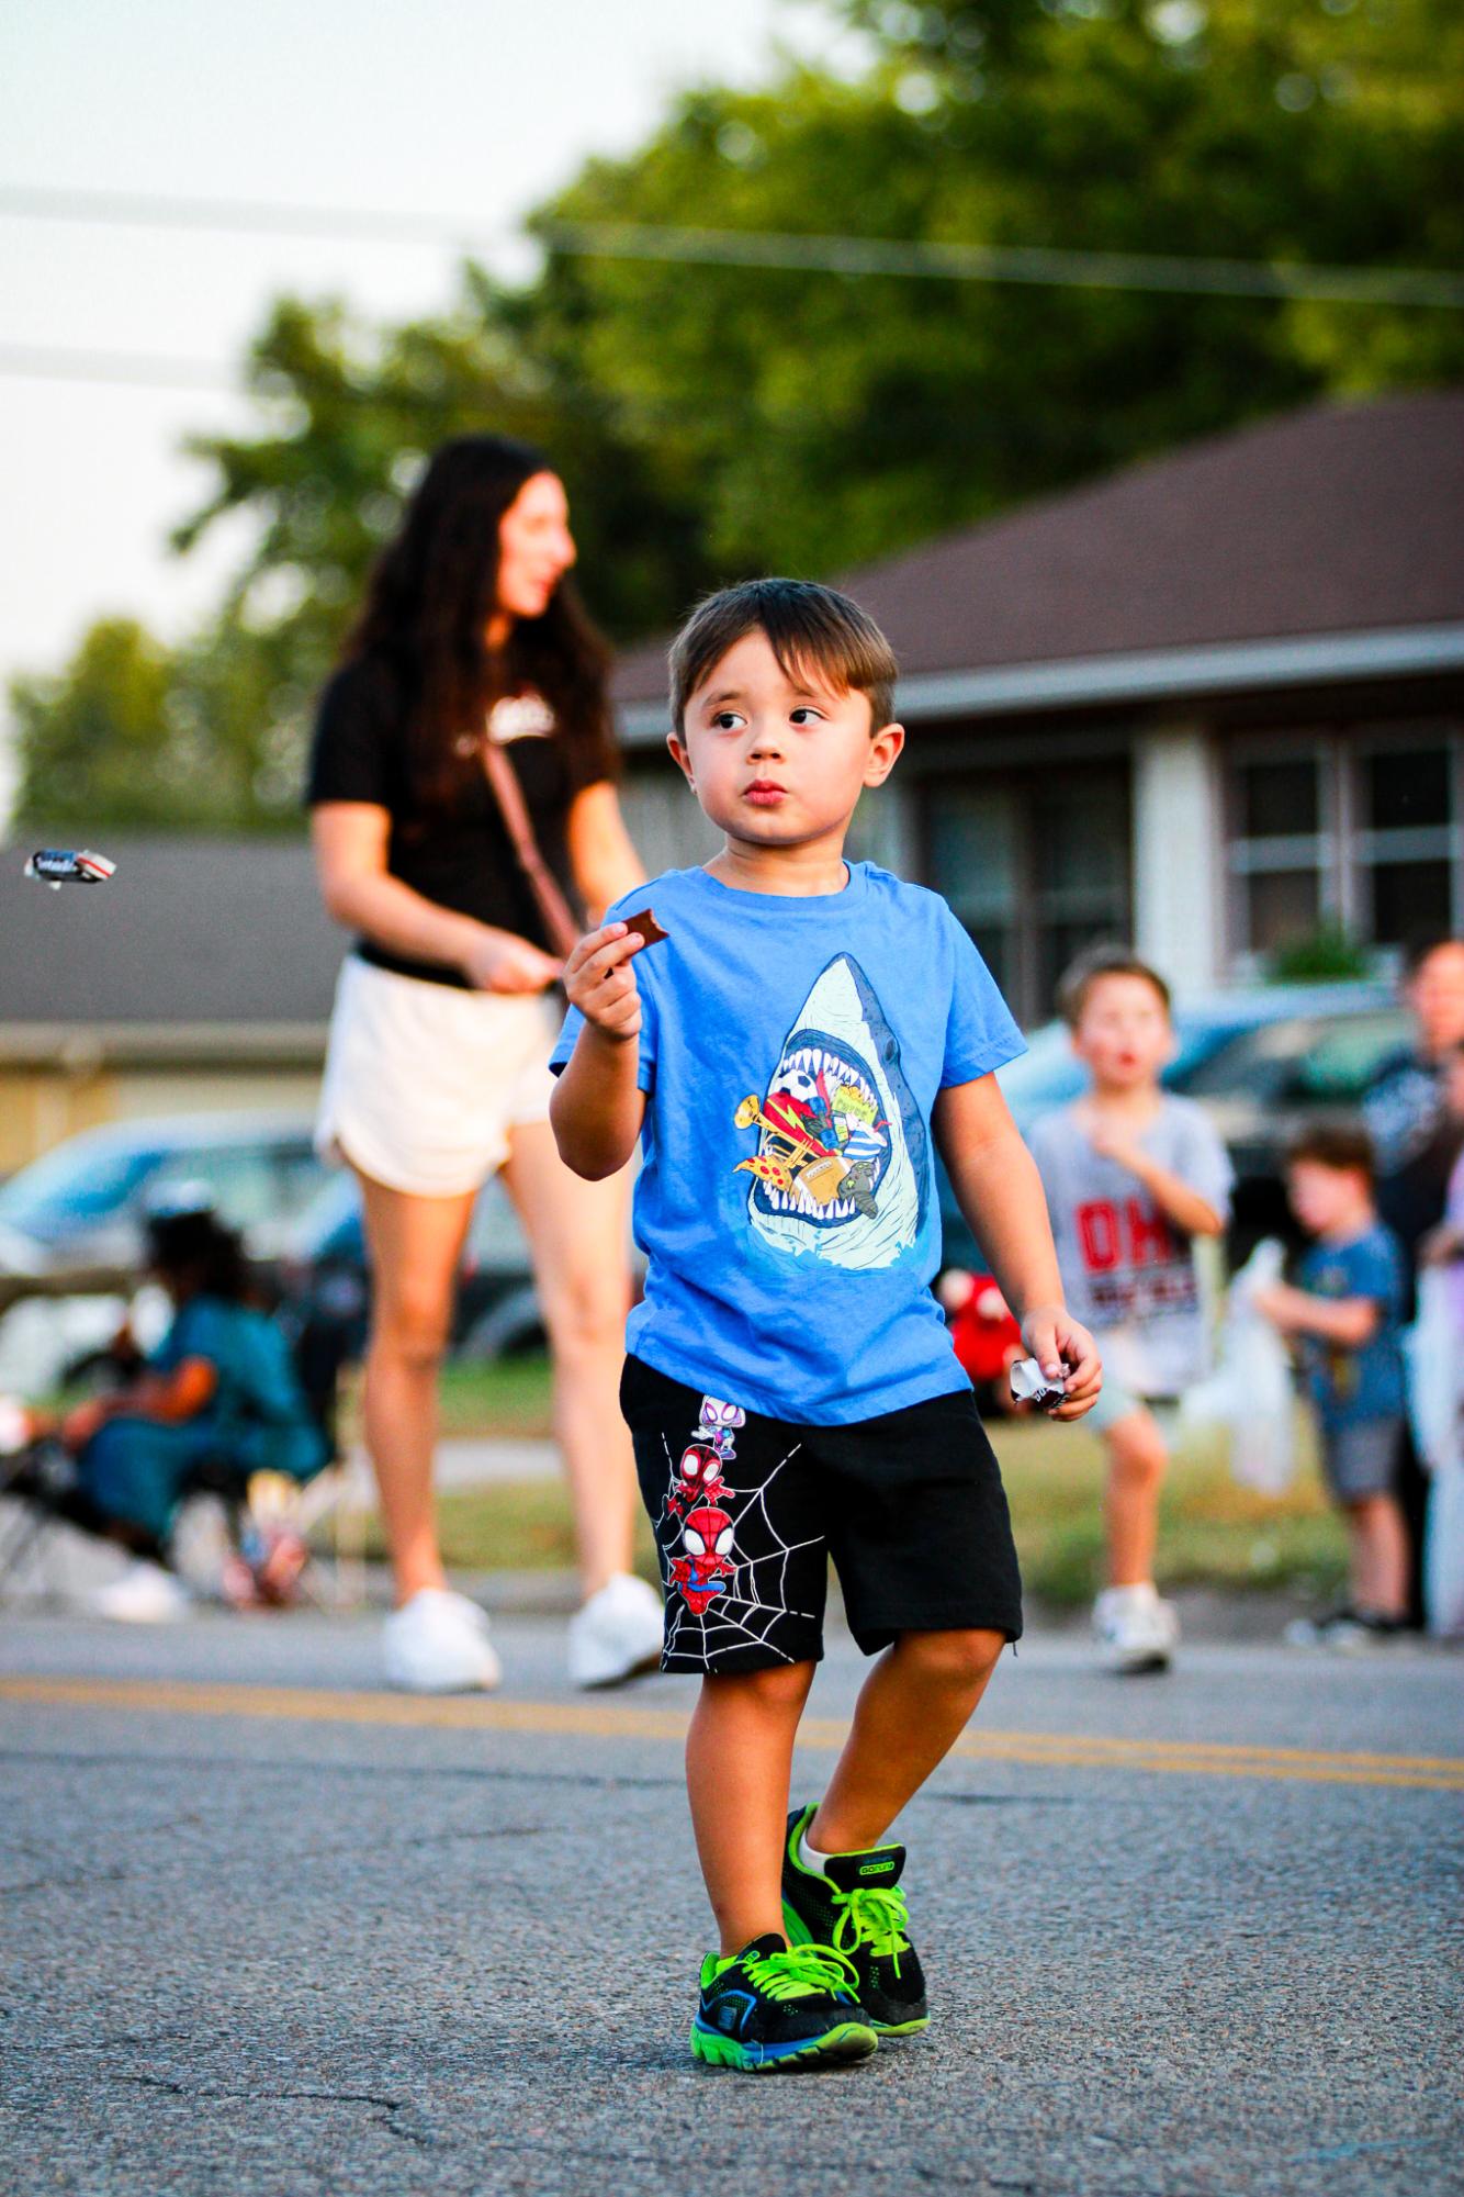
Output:
M1007 1498L970 1389L795 1426L628 1358L621 1410L656 1529L663 1670L817 1661L830 1558L865 1654L900 1632L1021 1635Z

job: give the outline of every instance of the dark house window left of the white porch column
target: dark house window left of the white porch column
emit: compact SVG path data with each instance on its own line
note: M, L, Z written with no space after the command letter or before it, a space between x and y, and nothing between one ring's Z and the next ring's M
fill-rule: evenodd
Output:
M950 901L1018 1022L1045 1022L1067 962L1126 938L1128 767L931 782L924 874Z

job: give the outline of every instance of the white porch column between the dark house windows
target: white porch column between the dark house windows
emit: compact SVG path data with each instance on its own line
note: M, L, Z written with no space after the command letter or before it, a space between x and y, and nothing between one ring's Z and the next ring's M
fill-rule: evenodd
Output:
M1159 725L1133 747L1135 947L1179 993L1225 975L1220 784L1201 725Z

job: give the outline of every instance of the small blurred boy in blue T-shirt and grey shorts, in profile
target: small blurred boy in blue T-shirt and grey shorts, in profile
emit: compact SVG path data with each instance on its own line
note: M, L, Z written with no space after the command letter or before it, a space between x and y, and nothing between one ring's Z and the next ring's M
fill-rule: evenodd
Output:
M1372 1138L1361 1127L1324 1123L1299 1136L1286 1195L1315 1241L1297 1270L1299 1287L1275 1283L1255 1294L1255 1307L1297 1345L1321 1432L1321 1470L1352 1542L1350 1602L1291 1637L1367 1648L1407 1624L1409 1542L1394 1494L1407 1410L1403 1246L1378 1219Z

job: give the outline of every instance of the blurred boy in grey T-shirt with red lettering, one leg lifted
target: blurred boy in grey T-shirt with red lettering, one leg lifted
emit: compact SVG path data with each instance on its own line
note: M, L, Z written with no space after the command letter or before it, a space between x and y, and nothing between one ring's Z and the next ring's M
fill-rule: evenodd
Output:
M1161 1413L1207 1371L1194 1239L1223 1233L1231 1164L1203 1109L1159 1083L1174 1028L1170 986L1148 962L1097 947L1062 978L1058 1008L1091 1081L1038 1123L1032 1153L1069 1303L1104 1360L1089 1426L1108 1452L1108 1584L1093 1632L1111 1670L1168 1670L1179 1624L1155 1586Z

